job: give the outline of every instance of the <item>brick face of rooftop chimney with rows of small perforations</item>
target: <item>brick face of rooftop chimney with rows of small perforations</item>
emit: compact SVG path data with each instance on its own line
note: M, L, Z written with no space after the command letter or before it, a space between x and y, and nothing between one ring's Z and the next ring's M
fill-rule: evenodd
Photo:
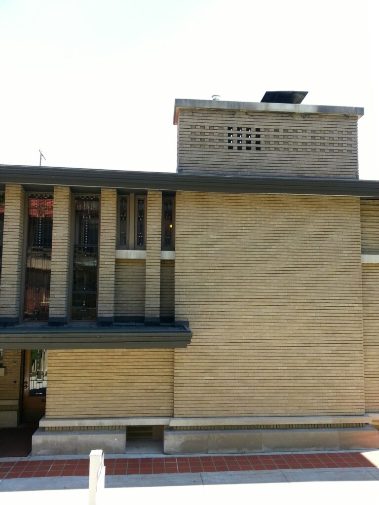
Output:
M233 127L233 131L228 131ZM241 127L243 131L236 131ZM246 128L251 128L247 132ZM260 131L255 131L260 128ZM233 137L227 135L232 133ZM241 138L237 135L241 133ZM246 134L251 134L247 138ZM260 135L256 137L256 135ZM228 140L233 140L229 144ZM242 140L242 144L237 141ZM250 140L252 143L245 143ZM256 144L255 142L260 142ZM228 149L229 146L233 149ZM237 147L242 149L238 150ZM252 147L247 150L246 147ZM259 150L256 150L256 147ZM178 170L358 178L357 118L181 109Z

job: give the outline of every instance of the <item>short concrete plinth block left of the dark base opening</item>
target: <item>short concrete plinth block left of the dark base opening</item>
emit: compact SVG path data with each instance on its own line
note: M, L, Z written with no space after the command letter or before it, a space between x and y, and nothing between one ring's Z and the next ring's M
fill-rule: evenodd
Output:
M125 452L126 430L44 431L32 436L32 456L86 454L102 449L108 454Z

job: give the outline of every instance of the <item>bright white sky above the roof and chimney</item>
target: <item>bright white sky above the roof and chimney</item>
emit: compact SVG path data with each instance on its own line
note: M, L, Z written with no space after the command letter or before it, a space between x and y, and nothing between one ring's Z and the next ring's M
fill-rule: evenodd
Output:
M364 107L379 179L373 0L0 0L0 163L175 171L174 98Z

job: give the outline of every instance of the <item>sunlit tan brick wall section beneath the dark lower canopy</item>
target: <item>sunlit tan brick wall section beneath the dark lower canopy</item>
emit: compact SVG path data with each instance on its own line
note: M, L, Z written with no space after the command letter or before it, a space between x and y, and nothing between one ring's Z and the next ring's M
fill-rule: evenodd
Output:
M172 349L49 351L48 418L172 412Z

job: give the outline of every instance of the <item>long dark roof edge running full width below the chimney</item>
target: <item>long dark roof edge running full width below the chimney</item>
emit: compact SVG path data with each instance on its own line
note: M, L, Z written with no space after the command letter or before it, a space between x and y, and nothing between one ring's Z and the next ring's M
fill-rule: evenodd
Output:
M137 172L0 165L0 183L85 188L157 189L223 193L278 193L379 197L379 181L319 177L267 177Z

